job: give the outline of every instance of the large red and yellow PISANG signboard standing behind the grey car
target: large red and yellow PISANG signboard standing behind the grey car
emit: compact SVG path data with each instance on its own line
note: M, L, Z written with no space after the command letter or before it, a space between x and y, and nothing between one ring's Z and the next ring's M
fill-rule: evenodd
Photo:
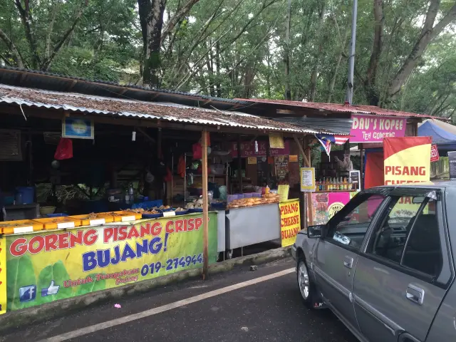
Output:
M430 137L385 138L385 185L430 181Z

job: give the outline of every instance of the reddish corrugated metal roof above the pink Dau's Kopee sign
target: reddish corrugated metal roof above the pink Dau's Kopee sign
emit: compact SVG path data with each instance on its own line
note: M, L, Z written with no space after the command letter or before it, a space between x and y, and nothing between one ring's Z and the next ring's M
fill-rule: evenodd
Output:
M402 117L402 118L448 120L446 118L437 118L432 115L415 114L415 113L401 112L398 110L379 108L379 107L376 107L375 105L340 105L338 103L312 103L312 102L300 102L300 101L289 101L289 100L268 100L268 99L264 99L264 98L255 98L255 99L236 98L235 100L249 102L249 103L259 103L259 104L264 103L264 104L269 104L269 105L285 105L285 106L289 106L289 107L324 110L326 112L373 114L373 115L385 115L385 116L398 116L398 117Z

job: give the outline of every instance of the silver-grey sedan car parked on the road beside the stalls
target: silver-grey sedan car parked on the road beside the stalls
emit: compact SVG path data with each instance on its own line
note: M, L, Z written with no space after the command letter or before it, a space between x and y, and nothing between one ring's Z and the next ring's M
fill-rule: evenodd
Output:
M360 341L456 341L455 203L455 182L377 187L299 232L304 303Z

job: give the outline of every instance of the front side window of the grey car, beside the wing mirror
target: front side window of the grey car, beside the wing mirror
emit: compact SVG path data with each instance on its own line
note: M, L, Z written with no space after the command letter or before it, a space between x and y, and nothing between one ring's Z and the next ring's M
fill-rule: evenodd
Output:
M381 195L364 195L353 198L341 210L341 214L331 219L326 237L340 244L360 249L369 224L383 199L385 197Z

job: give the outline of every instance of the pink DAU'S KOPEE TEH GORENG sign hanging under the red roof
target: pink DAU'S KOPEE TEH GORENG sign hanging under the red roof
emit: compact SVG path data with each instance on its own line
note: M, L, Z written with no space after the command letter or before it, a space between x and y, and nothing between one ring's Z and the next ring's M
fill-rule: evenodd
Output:
M402 138L406 118L352 114L350 142L383 142L384 138Z

